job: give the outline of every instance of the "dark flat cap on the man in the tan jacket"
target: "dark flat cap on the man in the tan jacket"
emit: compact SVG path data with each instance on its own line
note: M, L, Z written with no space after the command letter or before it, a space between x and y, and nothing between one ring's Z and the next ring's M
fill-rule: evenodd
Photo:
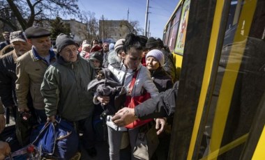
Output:
M28 29L25 30L25 34L28 39L30 38L43 38L50 36L50 31L43 29L40 26L31 26Z

